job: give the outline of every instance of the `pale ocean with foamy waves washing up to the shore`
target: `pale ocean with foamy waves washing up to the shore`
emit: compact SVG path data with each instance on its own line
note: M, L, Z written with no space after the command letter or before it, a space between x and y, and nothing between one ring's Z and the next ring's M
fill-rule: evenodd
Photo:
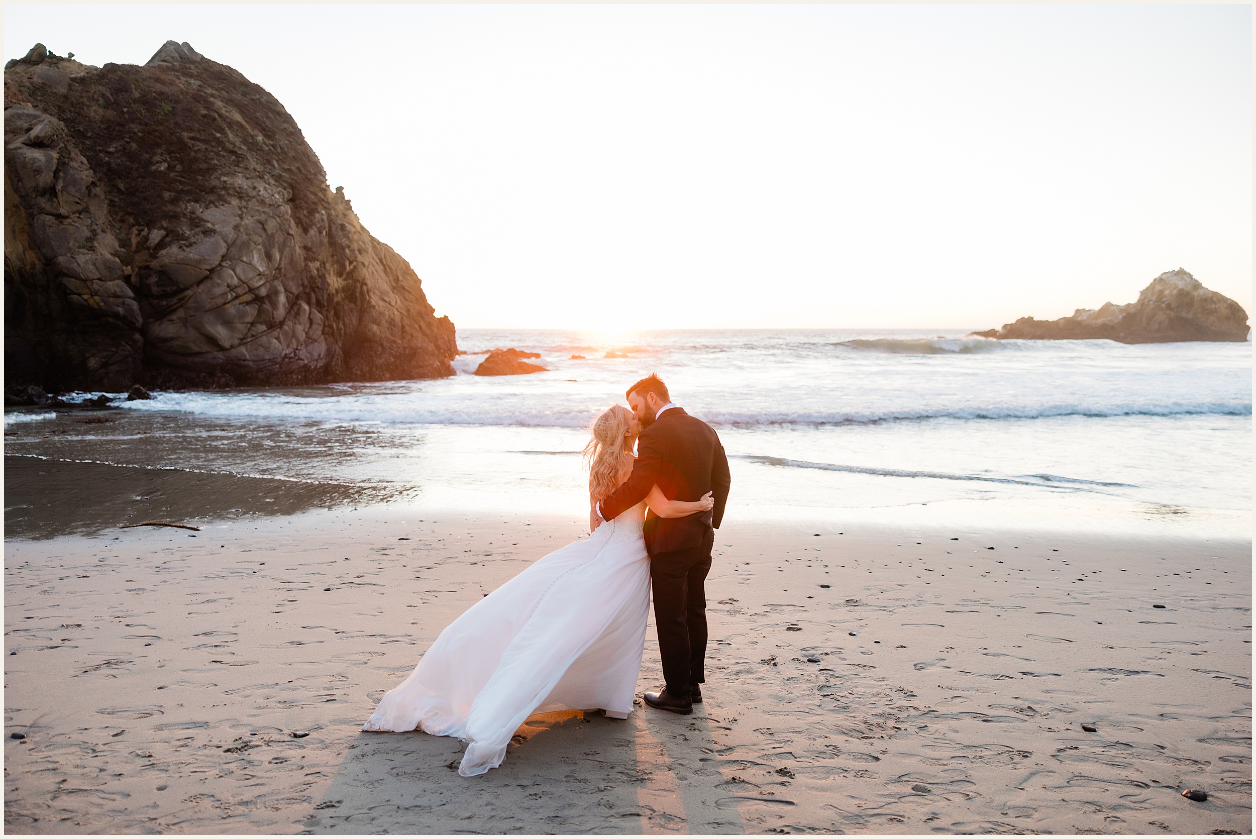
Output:
M1250 343L465 329L458 347L458 374L437 381L158 392L95 423L9 409L5 451L348 486L353 506L583 519L584 427L657 373L720 433L730 516L1250 534ZM549 371L474 376L497 347Z

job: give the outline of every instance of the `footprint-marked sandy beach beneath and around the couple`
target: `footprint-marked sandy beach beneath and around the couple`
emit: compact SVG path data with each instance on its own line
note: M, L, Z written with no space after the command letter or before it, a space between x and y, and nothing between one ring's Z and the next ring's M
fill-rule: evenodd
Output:
M40 521L5 543L10 833L1251 831L1247 543L731 520L700 712L534 718L463 779L359 727L574 516Z

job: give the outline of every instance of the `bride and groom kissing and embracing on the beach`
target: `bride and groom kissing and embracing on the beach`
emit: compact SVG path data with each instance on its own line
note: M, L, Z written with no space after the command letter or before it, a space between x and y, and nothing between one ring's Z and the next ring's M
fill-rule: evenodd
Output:
M706 681L706 593L728 460L707 423L672 404L657 376L593 421L588 539L541 556L462 613L363 731L467 744L458 774L500 766L533 713L598 710L625 720L637 696L654 592L666 687L646 705L692 713ZM637 455L633 456L633 443Z

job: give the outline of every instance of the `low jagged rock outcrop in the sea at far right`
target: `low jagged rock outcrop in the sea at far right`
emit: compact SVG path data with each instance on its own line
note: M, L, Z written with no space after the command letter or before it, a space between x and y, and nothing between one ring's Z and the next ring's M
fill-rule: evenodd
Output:
M983 338L1108 338L1123 344L1163 344L1176 340L1247 340L1247 313L1211 291L1181 268L1161 274L1138 295L1137 303L1078 309L1071 318L1021 318L1002 329L975 332Z

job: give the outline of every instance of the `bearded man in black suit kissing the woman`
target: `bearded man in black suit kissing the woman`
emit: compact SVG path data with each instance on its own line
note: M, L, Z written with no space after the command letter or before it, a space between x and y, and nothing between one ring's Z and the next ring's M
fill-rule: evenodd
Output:
M667 386L648 376L628 388L628 406L641 421L632 476L603 499L598 515L609 521L639 504L658 484L668 500L698 501L715 492L715 507L681 519L646 517L646 550L654 590L658 653L663 659L662 693L647 693L646 705L692 713L706 681L706 592L715 530L728 500L728 460L707 423L672 404Z

